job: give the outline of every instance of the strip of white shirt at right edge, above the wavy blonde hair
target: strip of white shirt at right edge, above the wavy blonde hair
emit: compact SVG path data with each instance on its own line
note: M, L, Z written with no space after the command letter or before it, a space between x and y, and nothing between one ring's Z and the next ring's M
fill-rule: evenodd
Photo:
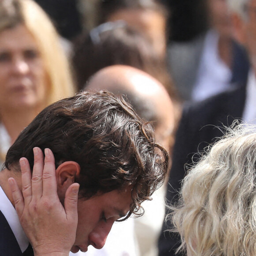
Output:
M256 77L252 70L248 74L245 108L242 118L246 124L256 124Z

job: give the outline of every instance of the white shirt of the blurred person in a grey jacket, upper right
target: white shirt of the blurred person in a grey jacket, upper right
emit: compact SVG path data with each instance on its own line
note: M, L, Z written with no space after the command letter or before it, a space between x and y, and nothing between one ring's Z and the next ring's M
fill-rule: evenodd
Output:
M192 101L201 101L231 88L232 72L219 56L218 40L218 33L209 30L192 90Z

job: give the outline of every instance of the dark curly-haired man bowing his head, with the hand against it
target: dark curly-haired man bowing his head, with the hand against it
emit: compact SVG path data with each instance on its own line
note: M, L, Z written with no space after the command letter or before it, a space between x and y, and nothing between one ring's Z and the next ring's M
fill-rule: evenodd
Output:
M13 238L0 236L1 255L22 255L29 242L36 256L102 248L113 222L141 214L168 165L151 125L123 97L82 92L50 105L11 146L0 172L0 211Z

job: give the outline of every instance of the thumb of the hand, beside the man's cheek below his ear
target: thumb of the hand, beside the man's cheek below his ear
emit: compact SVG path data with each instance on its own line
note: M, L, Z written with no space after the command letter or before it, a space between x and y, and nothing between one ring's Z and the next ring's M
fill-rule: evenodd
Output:
M77 225L77 202L78 202L79 184L73 183L70 185L65 194L64 208L67 219L73 220Z

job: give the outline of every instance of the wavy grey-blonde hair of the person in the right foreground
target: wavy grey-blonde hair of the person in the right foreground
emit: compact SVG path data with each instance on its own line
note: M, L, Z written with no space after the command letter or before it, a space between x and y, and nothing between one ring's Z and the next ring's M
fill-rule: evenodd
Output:
M188 255L256 255L256 126L228 128L183 181L175 231Z

